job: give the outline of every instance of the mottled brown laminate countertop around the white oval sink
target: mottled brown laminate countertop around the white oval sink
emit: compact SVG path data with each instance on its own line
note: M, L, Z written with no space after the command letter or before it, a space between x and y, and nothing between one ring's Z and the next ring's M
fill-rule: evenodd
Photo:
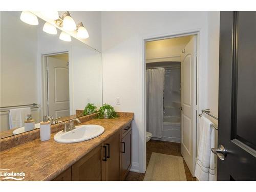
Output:
M81 124L98 124L105 128L100 136L79 143L57 143L35 139L0 153L0 168L8 172L24 172L23 181L50 181L96 146L133 120L133 113L116 119L92 119ZM3 177L1 177L3 178Z

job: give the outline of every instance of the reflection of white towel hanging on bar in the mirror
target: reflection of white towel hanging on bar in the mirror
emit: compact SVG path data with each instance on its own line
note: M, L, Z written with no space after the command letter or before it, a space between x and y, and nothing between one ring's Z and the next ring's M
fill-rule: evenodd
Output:
M10 129L24 126L24 121L27 114L31 114L30 108L11 109L9 113Z

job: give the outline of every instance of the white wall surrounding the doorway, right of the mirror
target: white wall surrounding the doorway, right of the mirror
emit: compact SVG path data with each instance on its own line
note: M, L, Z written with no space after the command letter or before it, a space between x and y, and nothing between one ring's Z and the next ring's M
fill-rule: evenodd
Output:
M103 102L115 106L117 111L134 112L133 121L133 165L132 170L143 172L143 38L155 38L187 31L200 30L198 98L199 109L217 106L216 94L211 95L209 86L218 87L218 72L212 73L208 66L218 68L215 33L219 25L219 12L177 12L177 11L138 11L102 12L102 53L103 53ZM209 17L209 18L208 18ZM212 28L214 31L210 32ZM215 26L215 27L214 27ZM218 30L218 29L217 29ZM214 47L210 47L215 45ZM211 76L211 78L210 78ZM214 76L212 78L212 76ZM121 105L115 98L121 97ZM212 102L209 97L214 97ZM209 104L209 101L211 104Z

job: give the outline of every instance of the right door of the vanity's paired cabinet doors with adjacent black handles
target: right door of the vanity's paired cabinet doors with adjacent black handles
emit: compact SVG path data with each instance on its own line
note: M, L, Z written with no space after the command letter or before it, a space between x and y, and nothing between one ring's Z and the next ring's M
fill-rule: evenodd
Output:
M118 132L106 140L103 145L106 147L106 161L104 161L106 181L119 181L119 137L120 133Z

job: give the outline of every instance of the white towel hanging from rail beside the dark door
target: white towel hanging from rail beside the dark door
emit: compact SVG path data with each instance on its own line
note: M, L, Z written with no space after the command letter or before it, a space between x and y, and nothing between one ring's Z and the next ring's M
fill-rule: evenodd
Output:
M215 147L215 129L212 122L201 117L201 136L198 146L198 156L196 162L195 176L199 181L216 181L215 157L211 148Z

